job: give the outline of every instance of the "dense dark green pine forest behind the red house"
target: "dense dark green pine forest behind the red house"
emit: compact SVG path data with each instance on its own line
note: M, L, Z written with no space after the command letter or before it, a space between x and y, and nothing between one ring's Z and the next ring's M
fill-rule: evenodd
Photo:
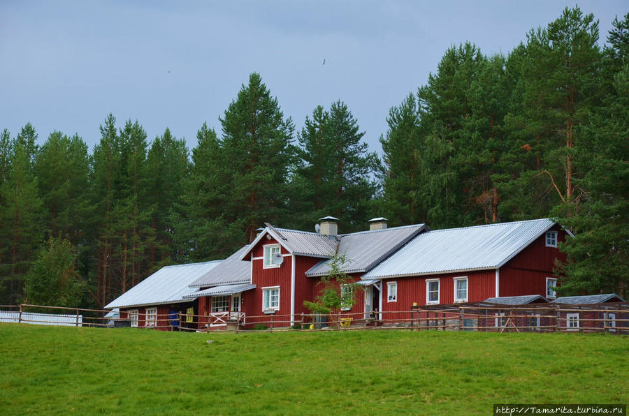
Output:
M102 307L164 265L225 258L270 222L340 218L449 228L557 218L575 237L562 294L626 295L629 276L629 13L605 47L566 8L507 56L453 45L391 108L368 151L342 101L301 130L252 73L194 149L166 128L109 114L89 154L31 124L0 134L0 302Z

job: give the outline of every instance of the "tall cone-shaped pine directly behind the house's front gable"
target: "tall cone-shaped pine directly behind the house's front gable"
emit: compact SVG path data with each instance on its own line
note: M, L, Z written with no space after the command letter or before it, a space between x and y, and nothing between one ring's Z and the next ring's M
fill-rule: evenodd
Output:
M275 223L286 216L294 125L284 119L277 98L256 73L220 121L222 156L229 161L225 219L240 223L245 242L250 242L265 221Z

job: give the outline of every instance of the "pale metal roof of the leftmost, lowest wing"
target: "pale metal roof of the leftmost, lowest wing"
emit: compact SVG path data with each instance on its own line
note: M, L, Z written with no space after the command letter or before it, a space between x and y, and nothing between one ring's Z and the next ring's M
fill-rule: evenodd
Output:
M189 288L190 283L217 267L221 261L162 267L114 299L105 308L188 302L189 299L184 299L184 296L198 291L197 288Z

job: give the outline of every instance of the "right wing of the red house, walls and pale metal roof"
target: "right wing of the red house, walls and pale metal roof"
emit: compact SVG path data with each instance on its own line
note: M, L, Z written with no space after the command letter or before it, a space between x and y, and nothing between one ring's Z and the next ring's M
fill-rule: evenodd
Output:
M424 232L364 274L379 311L543 295L552 288L558 242L569 232L549 219ZM366 292L370 295L370 291Z

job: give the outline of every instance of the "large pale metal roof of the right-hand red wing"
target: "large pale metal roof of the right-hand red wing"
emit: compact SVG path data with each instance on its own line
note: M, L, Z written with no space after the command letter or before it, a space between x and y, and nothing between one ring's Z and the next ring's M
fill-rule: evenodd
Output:
M424 232L363 279L496 269L554 225L544 218Z

